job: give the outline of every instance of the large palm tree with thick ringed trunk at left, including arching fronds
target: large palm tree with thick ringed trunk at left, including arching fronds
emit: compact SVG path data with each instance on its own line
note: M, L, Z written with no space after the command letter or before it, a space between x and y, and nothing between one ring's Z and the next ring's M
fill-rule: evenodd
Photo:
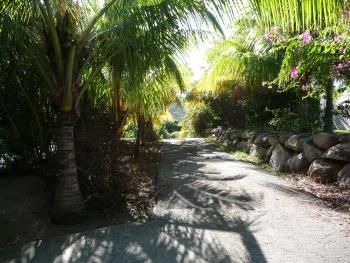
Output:
M110 0L98 8L97 3L89 2L92 4L76 0L4 0L0 4L1 19L6 20L1 27L11 28L6 37L17 40L27 54L28 62L50 90L57 112L55 222L77 221L84 211L75 162L74 122L79 116L80 101L91 89L96 75L112 58L123 56L124 61L132 62L127 72L135 77L134 73L140 73L140 65L133 58L150 47L149 40L180 51L185 42L174 42L174 34L191 28L190 20L209 21L218 28L209 8L220 13L227 3ZM161 26L173 28L174 33L167 34ZM148 53L146 63L152 61L156 52L154 49ZM144 72L133 81L141 83L147 70Z

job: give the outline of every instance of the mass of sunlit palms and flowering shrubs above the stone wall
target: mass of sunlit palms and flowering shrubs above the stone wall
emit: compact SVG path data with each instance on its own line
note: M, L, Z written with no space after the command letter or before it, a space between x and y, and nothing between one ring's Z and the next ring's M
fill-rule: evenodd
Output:
M347 1L258 2L262 9L235 20L232 37L209 51L188 96L190 127L199 136L217 126L333 131L334 115L347 118L347 103L334 105L348 92Z

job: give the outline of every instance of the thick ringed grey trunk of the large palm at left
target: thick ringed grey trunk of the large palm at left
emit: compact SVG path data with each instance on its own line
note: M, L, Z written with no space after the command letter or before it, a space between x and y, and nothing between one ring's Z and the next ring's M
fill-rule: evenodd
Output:
M58 178L53 201L52 221L57 224L75 224L85 211L78 183L74 149L74 125L71 113L59 113L57 134Z

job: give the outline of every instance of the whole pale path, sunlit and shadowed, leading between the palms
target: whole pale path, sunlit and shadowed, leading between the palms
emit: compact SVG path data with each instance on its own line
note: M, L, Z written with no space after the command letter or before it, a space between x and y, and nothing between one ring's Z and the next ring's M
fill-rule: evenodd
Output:
M145 224L0 250L0 262L350 262L349 215L200 139L164 141L158 184Z

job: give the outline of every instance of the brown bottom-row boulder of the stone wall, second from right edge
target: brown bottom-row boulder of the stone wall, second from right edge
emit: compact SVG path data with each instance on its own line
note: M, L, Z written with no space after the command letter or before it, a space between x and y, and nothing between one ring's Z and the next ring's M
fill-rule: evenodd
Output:
M333 160L317 159L312 162L308 175L318 183L332 183L338 178L343 164Z

